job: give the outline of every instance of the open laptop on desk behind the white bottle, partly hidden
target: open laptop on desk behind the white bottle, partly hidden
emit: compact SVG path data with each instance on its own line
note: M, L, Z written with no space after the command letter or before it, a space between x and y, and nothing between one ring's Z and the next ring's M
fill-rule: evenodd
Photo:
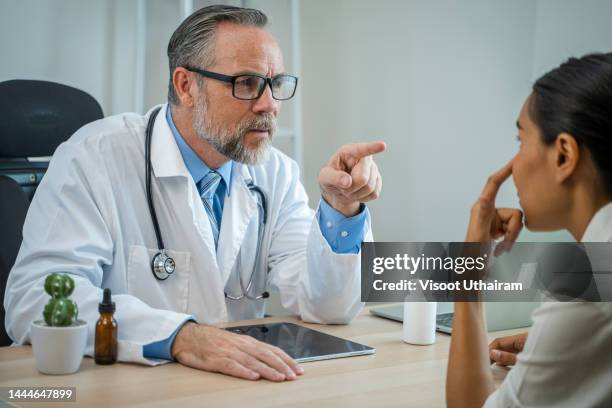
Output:
M539 302L488 302L485 306L487 330L509 330L531 326L531 313L540 305ZM404 321L404 304L379 306L370 309L374 316ZM451 334L453 314L439 313L436 317L436 330Z

